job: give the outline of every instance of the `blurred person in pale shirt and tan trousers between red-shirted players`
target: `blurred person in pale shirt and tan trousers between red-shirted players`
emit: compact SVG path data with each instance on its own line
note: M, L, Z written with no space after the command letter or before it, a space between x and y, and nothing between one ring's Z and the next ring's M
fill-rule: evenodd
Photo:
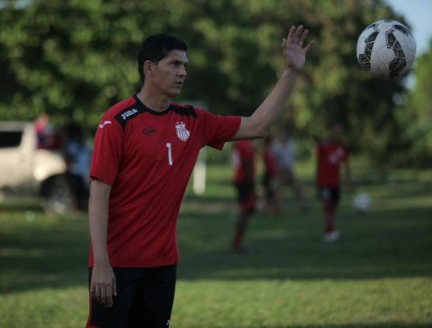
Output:
M272 142L272 152L276 157L281 186L290 186L293 190L295 201L301 211L307 209L303 189L294 173L295 142L286 131L281 130Z

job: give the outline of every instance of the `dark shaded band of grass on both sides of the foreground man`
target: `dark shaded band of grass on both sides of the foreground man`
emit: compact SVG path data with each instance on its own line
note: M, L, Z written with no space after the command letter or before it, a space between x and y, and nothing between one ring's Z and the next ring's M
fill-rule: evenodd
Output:
M321 241L322 214L316 204L306 215L295 210L283 216L258 213L245 237L251 252L233 254L232 202L214 200L186 202L182 209L179 279L432 276L431 207L377 211L365 217L341 208L337 223L342 239L330 244ZM1 220L0 293L87 285L85 215L48 223L42 215L31 224Z

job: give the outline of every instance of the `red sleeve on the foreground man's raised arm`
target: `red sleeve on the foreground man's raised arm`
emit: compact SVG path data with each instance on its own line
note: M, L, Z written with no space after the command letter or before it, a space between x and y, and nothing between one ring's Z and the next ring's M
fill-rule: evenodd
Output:
M203 109L198 111L198 115L204 118L204 145L221 150L240 128L240 116L214 115Z

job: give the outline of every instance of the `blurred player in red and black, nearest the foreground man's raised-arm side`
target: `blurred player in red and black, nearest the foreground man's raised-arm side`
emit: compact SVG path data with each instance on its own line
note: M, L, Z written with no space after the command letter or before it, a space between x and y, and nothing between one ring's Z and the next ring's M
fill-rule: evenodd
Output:
M244 233L250 216L255 212L255 146L250 140L234 143L232 162L234 166L234 185L237 189L239 213L232 241L234 252L244 252L242 247Z

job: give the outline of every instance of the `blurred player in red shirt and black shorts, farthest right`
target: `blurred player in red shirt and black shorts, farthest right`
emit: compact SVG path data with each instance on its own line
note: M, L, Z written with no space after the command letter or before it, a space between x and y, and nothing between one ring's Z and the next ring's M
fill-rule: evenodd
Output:
M328 140L315 138L318 155L317 187L319 197L323 202L326 218L324 229L325 242L336 242L340 238L340 232L335 229L334 220L340 198L339 167L341 163L345 163L348 189L351 186L349 150L340 141L341 132L341 126L334 124Z

